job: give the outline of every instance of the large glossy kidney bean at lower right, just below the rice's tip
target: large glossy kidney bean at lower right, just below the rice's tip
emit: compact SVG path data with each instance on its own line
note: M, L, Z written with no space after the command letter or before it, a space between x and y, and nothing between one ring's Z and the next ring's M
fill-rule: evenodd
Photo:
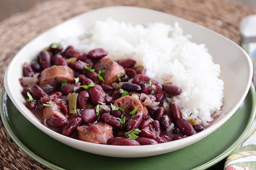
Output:
M180 129L181 133L187 136L191 136L195 133L193 126L186 119L180 118L180 119L177 119L175 122L176 122L176 126Z

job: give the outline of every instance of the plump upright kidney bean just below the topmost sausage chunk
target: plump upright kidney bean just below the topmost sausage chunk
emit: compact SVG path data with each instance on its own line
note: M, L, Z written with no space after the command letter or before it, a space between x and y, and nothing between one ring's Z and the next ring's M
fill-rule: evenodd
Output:
M100 85L95 85L87 91L89 93L89 100L93 105L98 105L99 102L105 103L105 92Z

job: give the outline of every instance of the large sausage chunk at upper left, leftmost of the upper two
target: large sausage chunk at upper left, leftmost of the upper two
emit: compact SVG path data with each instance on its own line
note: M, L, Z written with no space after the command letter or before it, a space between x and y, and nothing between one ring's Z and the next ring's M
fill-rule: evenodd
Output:
M74 82L75 72L66 65L53 65L41 72L40 87L55 88L62 81Z

